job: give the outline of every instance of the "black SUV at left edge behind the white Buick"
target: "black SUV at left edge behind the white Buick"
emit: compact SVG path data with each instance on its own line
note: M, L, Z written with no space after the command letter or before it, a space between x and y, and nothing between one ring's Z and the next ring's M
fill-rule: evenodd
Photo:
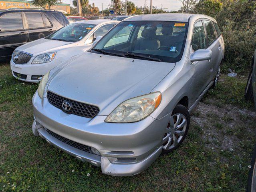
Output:
M16 47L67 24L67 18L56 10L0 9L0 60L10 58Z

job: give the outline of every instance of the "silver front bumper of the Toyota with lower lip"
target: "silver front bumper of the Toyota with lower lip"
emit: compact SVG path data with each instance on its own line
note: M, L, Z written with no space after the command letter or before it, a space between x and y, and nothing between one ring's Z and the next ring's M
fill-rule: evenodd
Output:
M52 106L47 98L33 96L34 135L39 134L49 144L77 159L101 166L104 174L131 176L148 168L161 154L163 132L168 115L160 120L151 116L135 123L107 123L107 116L85 118L66 114ZM96 148L101 155L85 152L62 142L47 130L63 138Z

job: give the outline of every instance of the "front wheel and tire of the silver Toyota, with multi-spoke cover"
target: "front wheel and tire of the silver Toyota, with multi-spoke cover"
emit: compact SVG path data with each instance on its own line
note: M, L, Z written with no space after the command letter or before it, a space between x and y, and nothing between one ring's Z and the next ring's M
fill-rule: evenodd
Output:
M179 119L179 122L178 122L178 119ZM187 108L185 108L185 106L181 104L177 104L177 106L175 106L175 108L173 109L168 126L165 129L165 133L162 141L163 142L162 154L168 154L170 152L173 152L173 150L177 149L181 145L181 143L187 136L189 124L190 124L190 115ZM177 142L175 142L174 138L176 138Z

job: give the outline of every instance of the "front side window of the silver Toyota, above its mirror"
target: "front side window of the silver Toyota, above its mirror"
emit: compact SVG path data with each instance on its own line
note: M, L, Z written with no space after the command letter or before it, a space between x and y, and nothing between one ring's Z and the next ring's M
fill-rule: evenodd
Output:
M202 21L198 21L194 25L191 45L194 51L206 48L206 34Z

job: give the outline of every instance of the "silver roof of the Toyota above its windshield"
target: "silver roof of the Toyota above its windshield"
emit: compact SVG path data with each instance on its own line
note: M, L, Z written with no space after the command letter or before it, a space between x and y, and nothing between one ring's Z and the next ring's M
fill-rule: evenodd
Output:
M124 21L174 21L174 22L189 22L189 19L193 18L208 18L216 22L216 20L210 16L203 14L187 14L187 13L162 13L162 14L145 14L130 16Z

